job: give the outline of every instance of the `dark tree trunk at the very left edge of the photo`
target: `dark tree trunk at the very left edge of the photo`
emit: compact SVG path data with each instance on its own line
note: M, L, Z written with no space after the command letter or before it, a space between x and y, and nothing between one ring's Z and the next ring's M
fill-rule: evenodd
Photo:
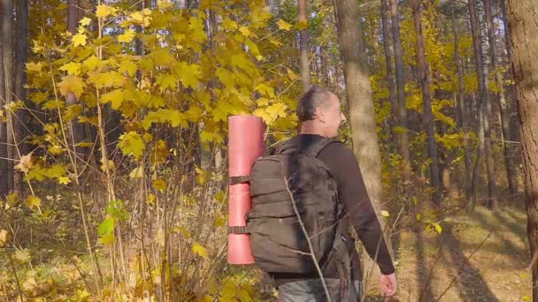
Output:
M13 95L13 1L4 0L2 7L2 52L4 59L4 102L12 102ZM12 112L6 110L6 181L7 189L13 189L13 162L14 157L14 138L13 138L13 115Z

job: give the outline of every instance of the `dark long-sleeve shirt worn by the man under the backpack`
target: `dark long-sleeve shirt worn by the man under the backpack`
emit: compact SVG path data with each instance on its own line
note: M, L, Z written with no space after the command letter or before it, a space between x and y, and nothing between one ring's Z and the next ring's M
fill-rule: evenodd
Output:
M315 134L300 134L292 140L297 140L298 146L301 148L314 141L322 140L322 137ZM365 182L355 155L344 144L334 142L325 147L319 153L318 158L327 165L338 187L339 199L345 210L344 218L341 221L341 223L344 223L344 230L348 230L351 223L370 257L375 259L377 251L376 261L380 266L381 273L384 275L394 273L395 268L388 253L385 240L383 240L377 215L373 210L372 202L366 192ZM348 242L348 250L351 255L352 278L360 279L360 261L355 250L355 242L350 234L344 234L344 236ZM332 257L327 263L327 266L323 270L323 276L328 278L340 277L335 257ZM313 276L273 274L277 286L282 283L317 277L319 277L317 274Z

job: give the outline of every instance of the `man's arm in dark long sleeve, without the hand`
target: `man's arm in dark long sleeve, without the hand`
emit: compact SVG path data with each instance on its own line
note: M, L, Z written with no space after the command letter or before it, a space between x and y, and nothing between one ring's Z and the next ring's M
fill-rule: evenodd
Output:
M319 159L331 170L341 201L366 252L376 260L383 275L394 273L395 268L355 155L342 143L333 143L319 154Z

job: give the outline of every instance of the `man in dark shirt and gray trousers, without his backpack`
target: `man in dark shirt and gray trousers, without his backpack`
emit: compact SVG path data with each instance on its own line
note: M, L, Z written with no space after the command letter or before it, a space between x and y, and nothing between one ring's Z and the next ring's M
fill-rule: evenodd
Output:
M292 138L298 147L305 147L324 138L338 136L339 127L346 122L340 110L338 97L326 89L312 87L297 104L297 116L301 123L299 135ZM395 268L383 239L380 223L366 193L355 155L340 142L333 142L318 155L331 172L337 185L339 200L344 208L342 223L344 241L350 255L351 272L349 285L342 286L336 257L329 258L323 266L323 276L333 301L357 301L360 296L360 263L355 243L347 232L349 224L357 231L367 253L380 266L380 285L383 296L396 293ZM379 249L378 249L379 245ZM377 255L377 256L376 256ZM318 275L304 276L290 273L272 273L283 302L326 301L326 292Z

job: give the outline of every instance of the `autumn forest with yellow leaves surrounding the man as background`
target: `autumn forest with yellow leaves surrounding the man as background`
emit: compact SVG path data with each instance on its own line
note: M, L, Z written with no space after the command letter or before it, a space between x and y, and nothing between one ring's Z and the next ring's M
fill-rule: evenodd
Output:
M228 117L338 95L396 301L538 301L535 0L2 0L0 301L276 301ZM357 241L358 242L358 241ZM362 251L360 246L357 250ZM383 301L365 258L365 301Z

